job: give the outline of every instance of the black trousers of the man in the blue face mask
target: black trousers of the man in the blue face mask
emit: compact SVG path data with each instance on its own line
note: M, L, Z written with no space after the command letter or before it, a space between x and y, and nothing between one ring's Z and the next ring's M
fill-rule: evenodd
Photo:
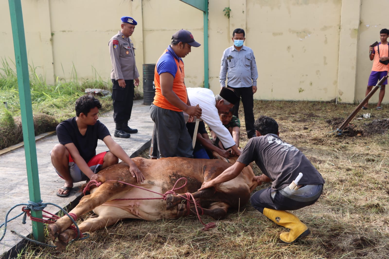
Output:
M252 87L230 87L231 89L235 90L235 92L238 94L238 96L242 99L243 103L243 110L244 110L244 121L246 125L246 132L247 137L251 138L253 135L255 135L255 129L254 129L254 100L253 100L253 93L252 93ZM238 111L239 111L239 103L235 103L235 113L234 115L239 118Z

